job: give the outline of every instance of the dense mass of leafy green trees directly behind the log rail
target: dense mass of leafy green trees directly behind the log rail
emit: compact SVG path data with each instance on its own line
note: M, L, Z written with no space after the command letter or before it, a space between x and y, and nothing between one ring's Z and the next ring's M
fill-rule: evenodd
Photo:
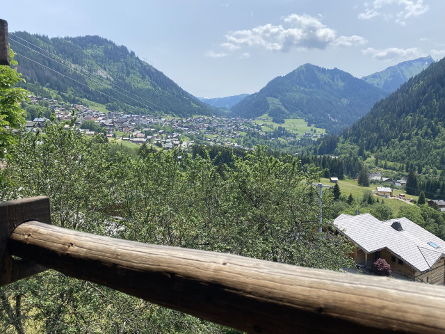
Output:
M323 193L320 207L312 186L321 173L303 171L293 156L271 157L257 148L232 156L226 168L208 150L181 161L180 150L136 157L118 151L111 157L110 147L117 145L54 122L44 133L25 132L17 140L0 170L8 180L0 197L49 196L55 225L307 267L353 264L346 240L317 232L332 228L332 193ZM225 333L221 326L54 271L0 291L9 303L0 303L1 314L20 305L12 317L0 317L0 328L17 333L24 319L46 333Z

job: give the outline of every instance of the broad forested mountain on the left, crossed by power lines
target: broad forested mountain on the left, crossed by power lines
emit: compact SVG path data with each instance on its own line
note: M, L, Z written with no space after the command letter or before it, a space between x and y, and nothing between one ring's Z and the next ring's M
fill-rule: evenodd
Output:
M67 102L86 98L105 104L110 111L127 113L191 116L214 110L127 47L105 38L48 38L16 32L9 41L17 52L18 71L26 79L24 88L34 93L44 92L43 86Z

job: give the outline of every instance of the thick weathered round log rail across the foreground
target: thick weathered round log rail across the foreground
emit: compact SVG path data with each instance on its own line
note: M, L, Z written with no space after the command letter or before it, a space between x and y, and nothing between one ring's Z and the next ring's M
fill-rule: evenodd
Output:
M1 212L0 212L1 214ZM17 225L8 251L249 333L445 333L445 288Z

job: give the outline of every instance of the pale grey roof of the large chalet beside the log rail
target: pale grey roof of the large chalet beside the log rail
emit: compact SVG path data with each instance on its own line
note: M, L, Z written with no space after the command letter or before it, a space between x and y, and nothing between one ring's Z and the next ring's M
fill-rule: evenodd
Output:
M400 222L403 230L392 228L394 221ZM387 248L416 271L431 269L445 256L445 241L405 217L379 221L371 214L341 214L334 220L334 225L364 252L369 254ZM428 242L438 247L434 248Z

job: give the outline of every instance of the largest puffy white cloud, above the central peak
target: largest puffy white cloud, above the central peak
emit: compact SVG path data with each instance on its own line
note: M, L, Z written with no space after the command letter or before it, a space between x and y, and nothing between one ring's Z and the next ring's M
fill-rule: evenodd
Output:
M264 24L253 29L230 31L225 35L223 46L230 51L235 47L259 47L268 51L289 51L300 49L325 49L363 45L366 40L361 36L339 36L337 31L321 23L310 15L292 14L283 18L284 25Z

